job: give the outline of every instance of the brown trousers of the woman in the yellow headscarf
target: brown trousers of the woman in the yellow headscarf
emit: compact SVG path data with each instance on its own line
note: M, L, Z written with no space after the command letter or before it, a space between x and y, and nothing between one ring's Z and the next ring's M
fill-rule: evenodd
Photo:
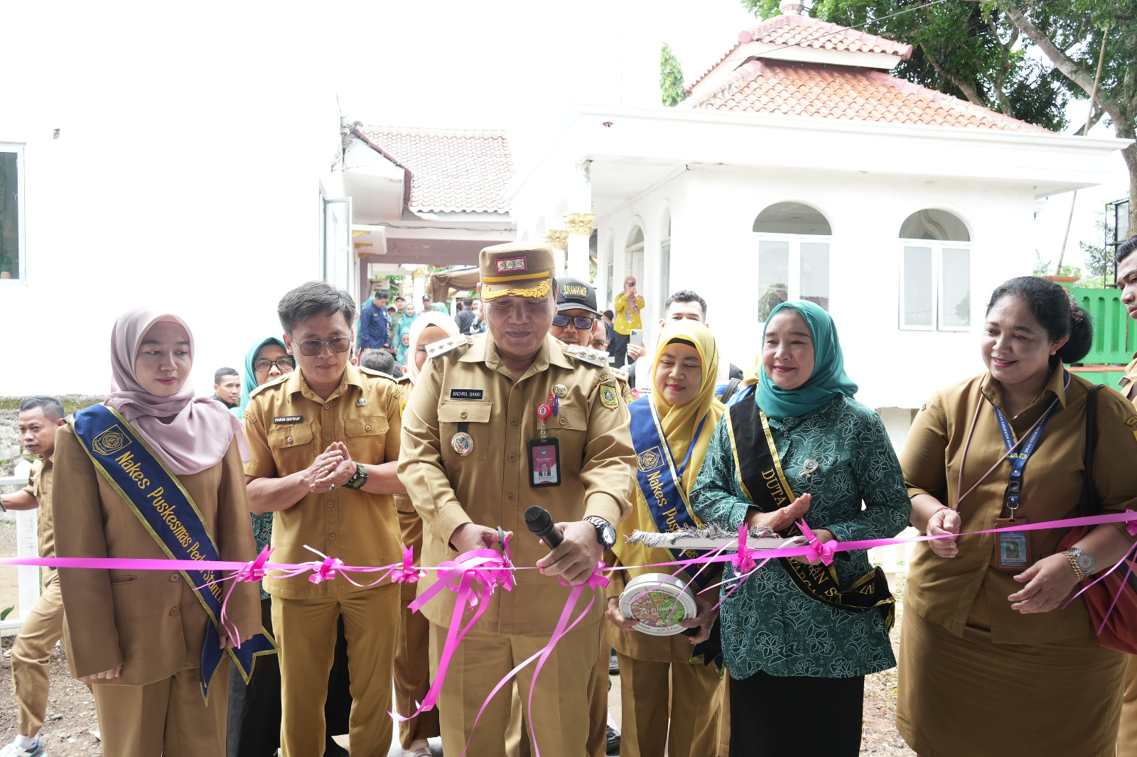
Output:
M716 757L723 683L714 667L617 656L621 757L663 757L665 748L684 757Z

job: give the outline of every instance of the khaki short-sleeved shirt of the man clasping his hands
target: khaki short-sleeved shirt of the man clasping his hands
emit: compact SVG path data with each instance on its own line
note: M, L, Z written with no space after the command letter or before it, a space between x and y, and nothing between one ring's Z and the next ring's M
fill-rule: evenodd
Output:
M250 459L246 475L283 477L304 471L332 442L347 444L351 459L367 465L399 456L399 400L395 380L347 366L331 397L317 397L293 371L258 386L244 409ZM273 561L319 560L305 546L346 565L402 561L399 521L390 494L337 486L308 493L273 516ZM359 581L358 583L370 583ZM381 584L376 584L381 585ZM284 599L310 599L362 591L342 577L312 583L308 574L265 577L265 591Z

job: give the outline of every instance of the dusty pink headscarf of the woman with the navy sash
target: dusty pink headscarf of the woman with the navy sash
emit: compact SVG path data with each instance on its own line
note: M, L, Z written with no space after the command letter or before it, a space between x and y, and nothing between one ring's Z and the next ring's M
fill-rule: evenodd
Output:
M111 393L103 404L130 422L174 475L201 473L217 465L234 436L241 459L248 460L241 422L216 400L196 397L189 378L171 397L155 397L134 377L134 360L142 339L160 321L185 330L192 359L193 334L184 321L148 308L124 313L110 334Z

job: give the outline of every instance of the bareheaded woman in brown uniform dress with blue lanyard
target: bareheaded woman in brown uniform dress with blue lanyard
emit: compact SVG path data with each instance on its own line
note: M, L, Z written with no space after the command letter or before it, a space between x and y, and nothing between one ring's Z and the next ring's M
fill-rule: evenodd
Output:
M949 534L1078 515L1090 384L1061 364L1090 343L1088 314L1057 284L1021 277L995 290L980 342L987 372L936 392L908 433L902 465L916 529ZM1132 415L1118 392L1098 392L1093 483L1106 513L1137 508ZM1010 459L1026 460L1014 485L1004 431ZM1130 540L1123 524L1105 524L1059 552L1065 534L916 547L896 725L921 757L1113 755L1126 656L1097 643L1080 598L1065 604Z

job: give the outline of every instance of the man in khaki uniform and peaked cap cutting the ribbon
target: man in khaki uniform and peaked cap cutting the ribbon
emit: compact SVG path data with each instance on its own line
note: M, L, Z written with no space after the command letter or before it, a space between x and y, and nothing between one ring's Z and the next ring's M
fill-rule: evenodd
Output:
M517 571L513 591L490 597L450 660L439 701L447 754L471 739L467 754L499 757L508 690L488 705L476 729L474 717L493 685L548 643L570 593L556 576L584 582L614 540L612 525L629 510L634 456L625 388L604 356L549 334L553 250L499 244L482 250L480 266L488 333L430 350L404 418L399 477L423 516L424 565L495 547L500 526L513 534L514 563L541 567ZM550 396L556 413L542 435L538 408ZM548 509L563 532L551 552L525 529L531 505ZM420 581L420 594L434 580L432 573ZM586 755L600 599L557 644L536 687L532 665L518 674L525 708L533 689L531 737L547 757ZM454 602L454 592L443 591L423 608L435 664Z

